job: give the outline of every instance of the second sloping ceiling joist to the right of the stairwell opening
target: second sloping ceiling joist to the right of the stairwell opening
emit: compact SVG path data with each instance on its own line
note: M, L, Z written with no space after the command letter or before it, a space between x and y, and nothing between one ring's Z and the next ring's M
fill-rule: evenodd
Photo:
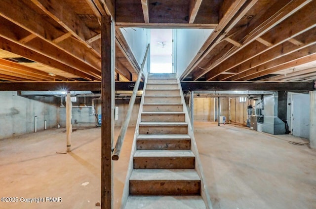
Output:
M210 70L214 69L215 67L222 64L224 61L226 61L228 58L235 55L240 50L244 49L246 46L248 46L250 43L252 43L254 40L256 40L258 37L266 34L268 31L270 31L272 28L274 28L277 24L284 21L286 18L290 17L292 14L300 10L302 7L307 5L312 0L296 0L289 2L286 6L284 6L282 9L280 9L278 12L276 12L275 15L270 17L268 20L266 20L260 29L256 29L249 33L249 35L245 36L244 41L242 43L241 47L233 47L230 49L230 53L228 53L226 56L222 57L221 59L217 60L210 60L209 63L211 63L210 66L207 67L207 70L199 71L195 74L194 79L197 80L202 75L206 74ZM302 32L303 33L303 32ZM217 76L213 74L212 76Z

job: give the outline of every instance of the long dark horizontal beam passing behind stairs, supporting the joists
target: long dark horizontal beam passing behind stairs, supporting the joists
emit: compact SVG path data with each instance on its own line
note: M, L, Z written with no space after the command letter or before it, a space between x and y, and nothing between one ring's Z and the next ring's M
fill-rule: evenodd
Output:
M135 82L116 82L116 91L133 91ZM138 90L143 89L140 83ZM183 91L313 91L314 82L181 81ZM100 91L101 82L0 82L0 91ZM314 89L315 90L315 89Z

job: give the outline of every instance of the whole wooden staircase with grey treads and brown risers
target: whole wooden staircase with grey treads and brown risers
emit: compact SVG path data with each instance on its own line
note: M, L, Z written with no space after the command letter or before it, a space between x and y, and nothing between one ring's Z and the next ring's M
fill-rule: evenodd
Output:
M211 209L176 74L149 73L121 209Z

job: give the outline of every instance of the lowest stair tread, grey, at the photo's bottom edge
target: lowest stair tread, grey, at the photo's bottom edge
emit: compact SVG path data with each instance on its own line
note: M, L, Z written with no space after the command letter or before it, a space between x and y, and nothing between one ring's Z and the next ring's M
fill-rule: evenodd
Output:
M125 209L206 209L201 196L129 196Z

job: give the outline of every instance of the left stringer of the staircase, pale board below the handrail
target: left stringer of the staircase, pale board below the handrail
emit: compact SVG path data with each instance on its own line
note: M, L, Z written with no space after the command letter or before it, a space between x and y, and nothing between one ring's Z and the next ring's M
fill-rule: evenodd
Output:
M145 78L144 87L143 87L143 95L142 95L142 98L140 101L139 112L138 112L138 117L137 117L137 122L136 122L136 127L135 127L135 134L134 134L134 139L133 139L133 143L132 143L132 149L130 152L128 168L127 168L127 173L126 173L126 178L125 178L125 184L124 184L123 193L122 193L121 205L119 207L120 209L125 209L127 198L129 196L129 179L130 179L130 176L131 176L132 171L134 169L133 160L134 160L134 154L137 150L136 143L137 143L137 136L139 133L139 123L141 122L141 116L142 116L142 112L143 112L143 104L144 104L144 96L145 96L146 86L147 86L147 77Z

